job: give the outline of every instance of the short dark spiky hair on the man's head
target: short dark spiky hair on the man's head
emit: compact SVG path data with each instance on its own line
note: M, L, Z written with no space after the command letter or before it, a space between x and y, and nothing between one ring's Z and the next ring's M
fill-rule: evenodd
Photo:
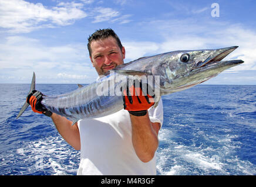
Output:
M96 32L93 33L92 35L90 35L88 38L87 48L88 48L90 57L92 57L92 49L90 48L90 44L92 43L92 41L106 39L107 37L110 37L110 36L112 36L114 39L116 39L116 42L122 51L122 49L123 49L122 43L121 43L119 37L117 36L117 34L114 32L114 30L112 30L110 28L109 29L99 29L99 30L96 30Z

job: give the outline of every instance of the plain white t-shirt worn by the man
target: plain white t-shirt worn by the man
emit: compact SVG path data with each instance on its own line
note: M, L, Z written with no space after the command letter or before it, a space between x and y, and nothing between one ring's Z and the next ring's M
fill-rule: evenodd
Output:
M150 121L163 123L163 102L149 110ZM149 162L137 157L132 144L129 112L78 121L80 165L78 175L156 175L156 155Z

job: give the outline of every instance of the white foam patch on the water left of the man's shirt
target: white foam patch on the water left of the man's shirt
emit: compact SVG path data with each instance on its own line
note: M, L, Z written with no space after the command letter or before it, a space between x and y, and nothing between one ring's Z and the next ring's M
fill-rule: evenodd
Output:
M75 151L60 136L32 141L18 148L16 153L26 162L26 171L21 171L21 175L33 175L38 171L46 175L76 174L80 161L80 152Z

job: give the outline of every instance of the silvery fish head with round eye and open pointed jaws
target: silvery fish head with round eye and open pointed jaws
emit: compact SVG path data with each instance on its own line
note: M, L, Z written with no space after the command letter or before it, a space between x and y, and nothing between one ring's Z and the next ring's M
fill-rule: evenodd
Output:
M242 60L221 61L237 47L165 53L165 61L159 67L161 91L163 94L182 91L215 77L227 68L244 63Z

